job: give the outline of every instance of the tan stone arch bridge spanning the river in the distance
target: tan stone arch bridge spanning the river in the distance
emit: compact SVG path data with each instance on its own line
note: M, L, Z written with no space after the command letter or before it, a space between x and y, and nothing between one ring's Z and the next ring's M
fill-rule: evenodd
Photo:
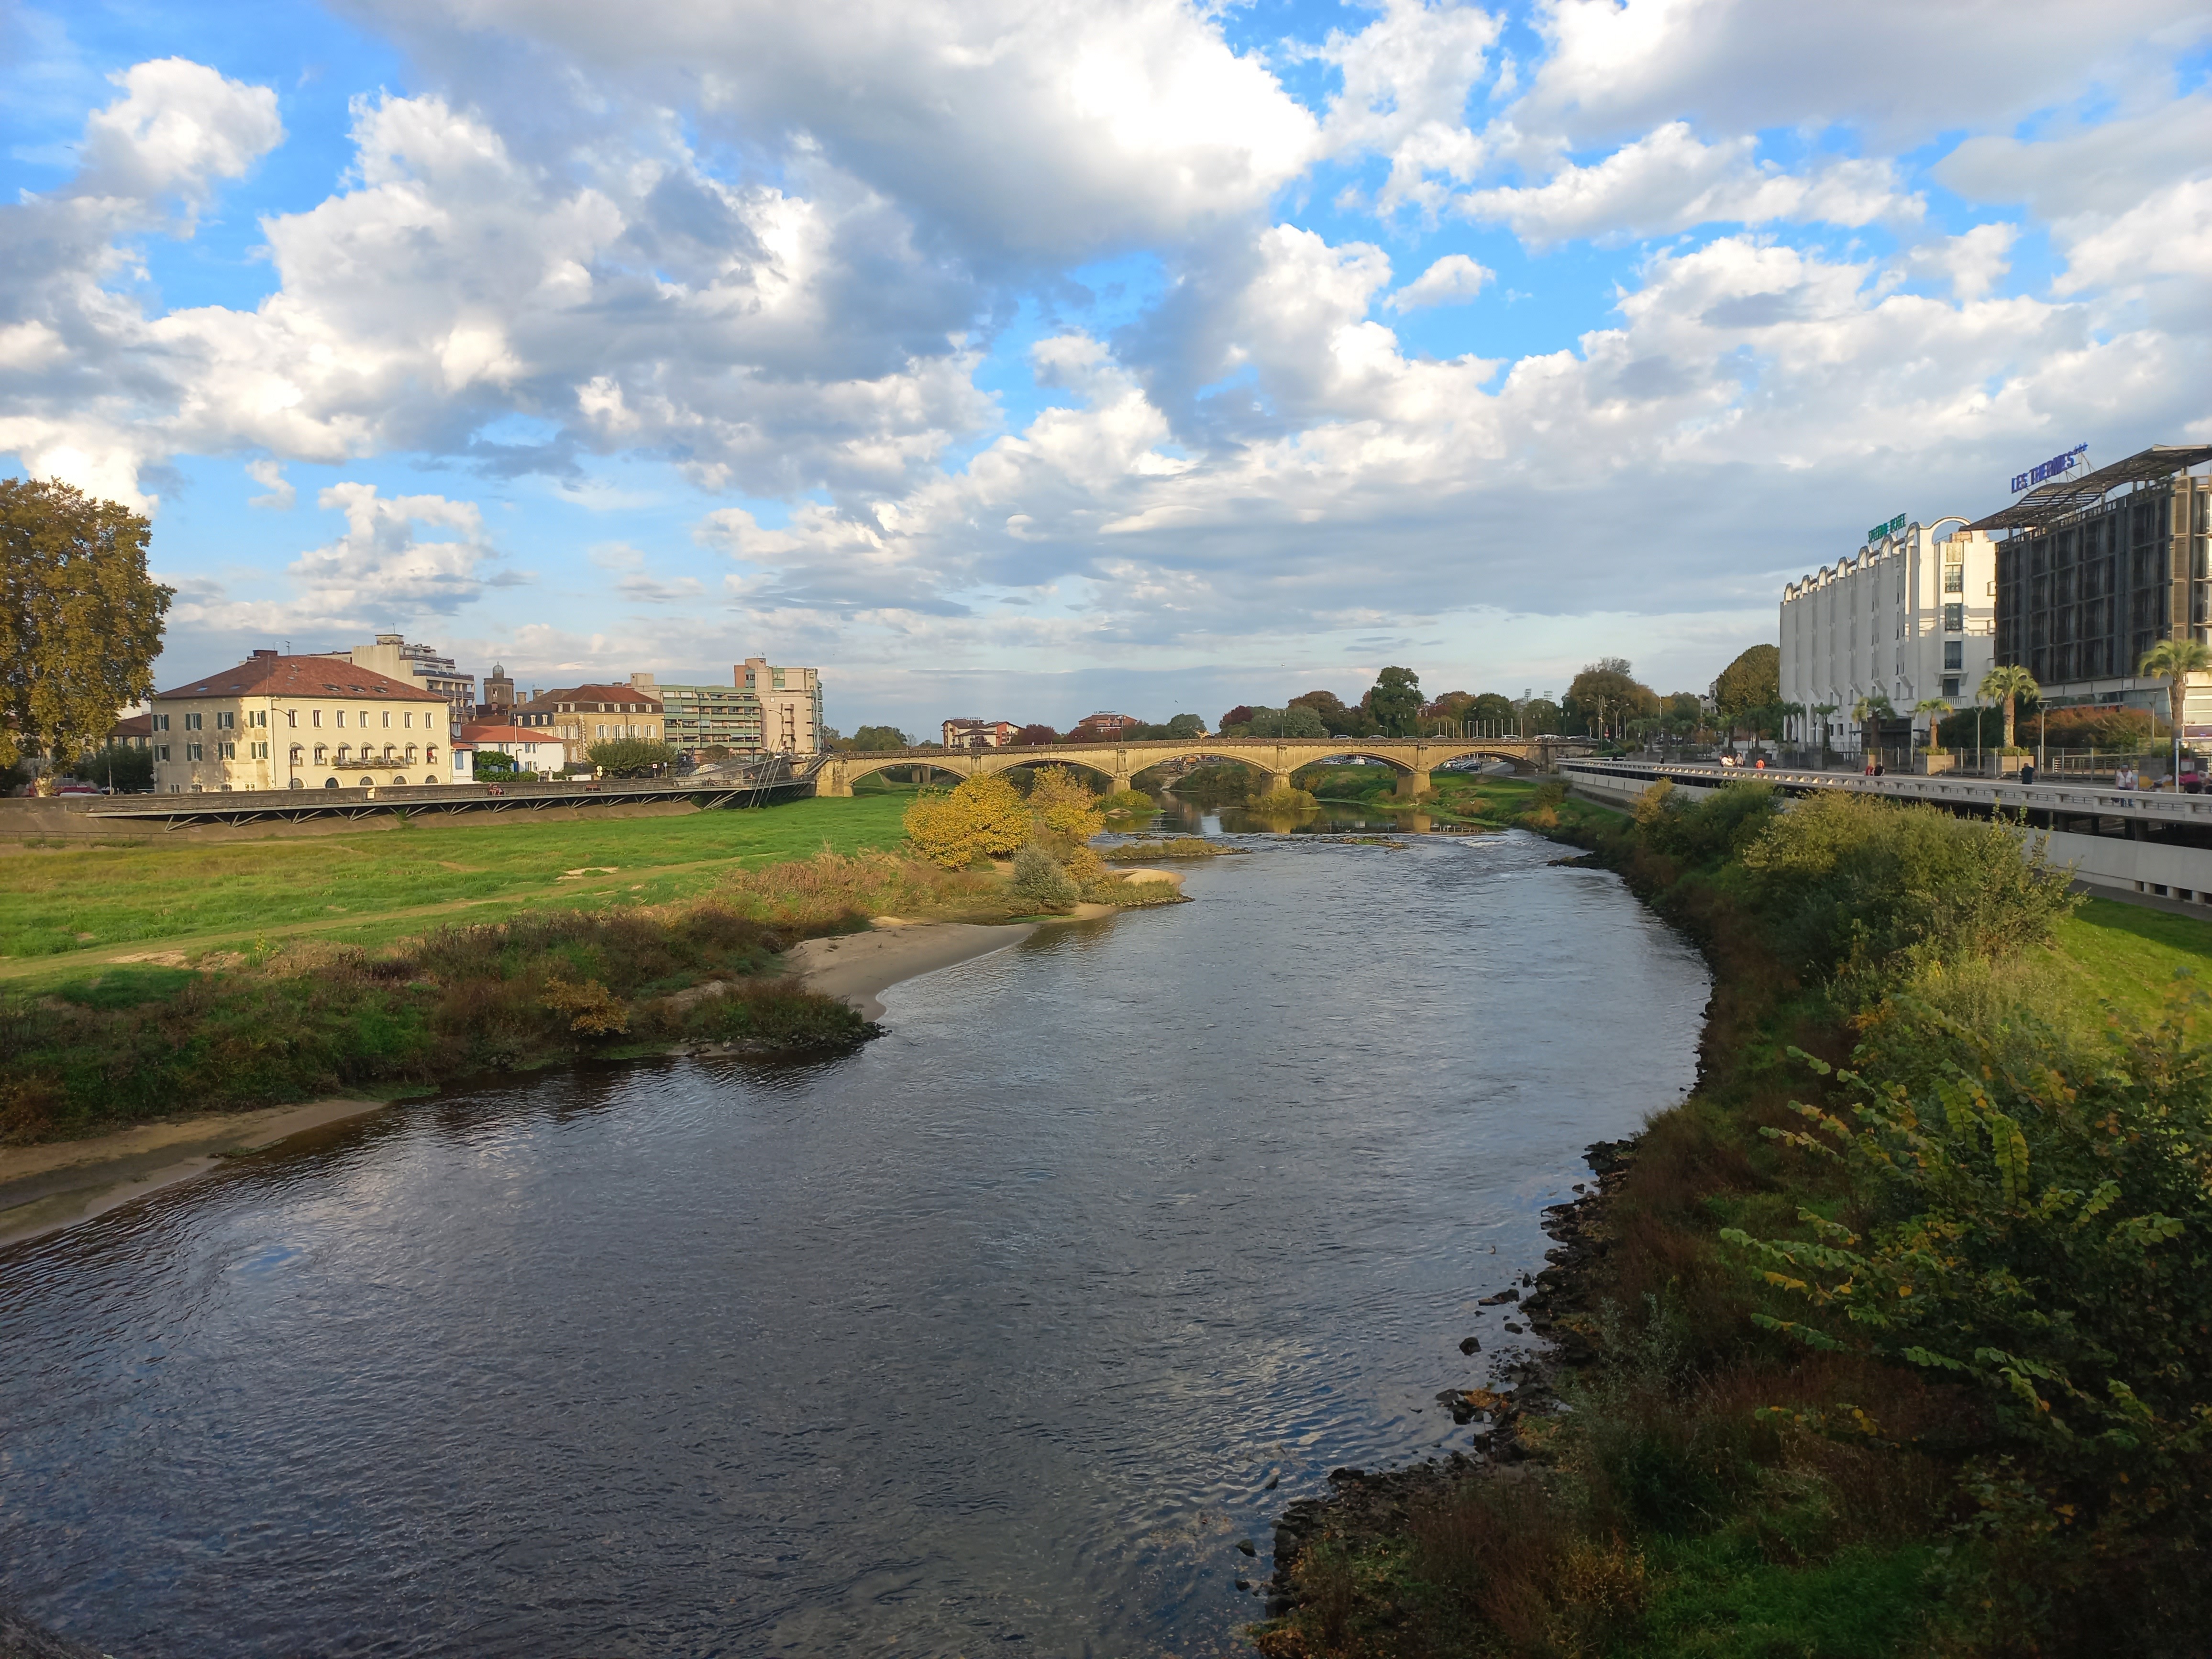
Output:
M1018 765L1079 765L1115 790L1161 761L1243 761L1267 779L1267 794L1290 787L1290 774L1316 761L1383 761L1398 772L1398 794L1413 799L1429 787L1429 772L1451 761L1482 757L1511 761L1517 772L1548 772L1559 757L1588 754L1586 737L1175 737L1146 743L1040 743L1006 750L880 750L832 754L814 772L814 794L852 794L872 772L929 765L973 776Z

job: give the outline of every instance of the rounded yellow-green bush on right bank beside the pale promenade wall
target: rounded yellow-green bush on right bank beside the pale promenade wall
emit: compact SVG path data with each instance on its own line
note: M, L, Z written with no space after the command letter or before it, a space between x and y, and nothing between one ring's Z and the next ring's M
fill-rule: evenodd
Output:
M1772 816L1741 860L1776 945L1801 969L1869 987L1880 984L1869 975L2039 945L2075 905L2070 874L2022 825L1845 790Z

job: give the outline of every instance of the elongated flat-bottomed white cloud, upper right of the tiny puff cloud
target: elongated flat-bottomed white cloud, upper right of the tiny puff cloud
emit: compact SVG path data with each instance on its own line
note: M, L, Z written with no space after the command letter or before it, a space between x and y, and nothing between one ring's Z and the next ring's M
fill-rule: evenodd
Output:
M1564 166L1540 186L1471 190L1451 206L1480 223L1506 223L1535 248L1659 237L1703 223L1865 226L1922 215L1889 161L1836 159L1787 173L1754 161L1754 150L1756 139L1703 144L1688 122L1668 122L1604 161Z

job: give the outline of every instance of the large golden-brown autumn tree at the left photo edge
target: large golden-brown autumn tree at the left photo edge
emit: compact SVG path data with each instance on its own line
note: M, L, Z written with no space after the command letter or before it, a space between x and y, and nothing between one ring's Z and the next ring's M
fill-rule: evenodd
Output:
M66 765L153 692L175 588L146 575L150 533L71 484L0 478L0 765Z

